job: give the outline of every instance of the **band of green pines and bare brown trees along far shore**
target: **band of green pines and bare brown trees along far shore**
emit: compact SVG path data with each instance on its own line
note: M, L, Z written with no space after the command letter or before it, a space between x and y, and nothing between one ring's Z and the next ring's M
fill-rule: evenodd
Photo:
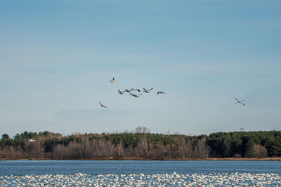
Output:
M216 132L209 135L133 132L72 134L23 132L3 134L0 158L8 159L197 159L281 156L281 131Z

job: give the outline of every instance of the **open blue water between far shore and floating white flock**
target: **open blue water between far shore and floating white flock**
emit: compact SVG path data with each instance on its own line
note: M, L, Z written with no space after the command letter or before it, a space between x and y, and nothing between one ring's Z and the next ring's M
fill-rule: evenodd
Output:
M234 160L7 160L0 161L0 176L31 174L281 174L278 161Z

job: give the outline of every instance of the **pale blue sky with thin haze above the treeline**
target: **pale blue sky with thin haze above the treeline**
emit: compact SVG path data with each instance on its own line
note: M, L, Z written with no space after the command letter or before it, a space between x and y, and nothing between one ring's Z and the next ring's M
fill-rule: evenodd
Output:
M280 127L280 8L280 1L0 1L0 134ZM154 89L140 98L117 94L135 86Z

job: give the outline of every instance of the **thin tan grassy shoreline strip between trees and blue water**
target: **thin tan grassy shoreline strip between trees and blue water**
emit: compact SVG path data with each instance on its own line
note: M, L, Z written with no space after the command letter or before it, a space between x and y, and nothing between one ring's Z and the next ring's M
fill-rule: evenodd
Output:
M13 159L13 158L0 158L0 161L5 160L159 160L159 159L145 159L145 158L89 158L89 159L50 159L50 158L22 158L22 159ZM162 159L170 160L170 161L188 161L188 160L210 160L210 161L221 161L221 160L229 160L229 161L281 161L281 157L275 158L186 158L186 159ZM161 160L159 160L161 161Z

